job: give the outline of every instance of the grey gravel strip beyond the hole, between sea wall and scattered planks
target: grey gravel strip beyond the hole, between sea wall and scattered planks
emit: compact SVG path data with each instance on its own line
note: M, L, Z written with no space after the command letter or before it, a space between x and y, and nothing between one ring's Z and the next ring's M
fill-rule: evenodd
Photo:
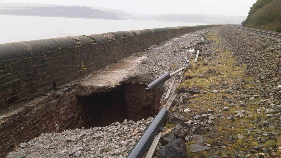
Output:
M198 46L189 48L198 42L199 37L204 37L210 29L204 29L200 31L191 32L180 37L164 41L159 45L151 46L144 51L136 54L136 56L146 56L148 59L145 60L145 64L141 64L138 75L139 78L148 78L151 81L157 79L165 73L172 73L181 67L189 67L189 63L185 60L194 61ZM193 52L188 52L194 49ZM162 99L165 98L166 92L173 79L175 80L172 91L178 87L181 82L181 78L177 76L178 73L169 78L164 83L165 93L162 95Z

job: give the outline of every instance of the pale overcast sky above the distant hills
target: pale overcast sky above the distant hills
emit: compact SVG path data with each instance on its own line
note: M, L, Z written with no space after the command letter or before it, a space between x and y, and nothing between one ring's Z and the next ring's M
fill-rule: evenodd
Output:
M247 16L257 0L0 0L7 3L85 5L133 14L219 14Z

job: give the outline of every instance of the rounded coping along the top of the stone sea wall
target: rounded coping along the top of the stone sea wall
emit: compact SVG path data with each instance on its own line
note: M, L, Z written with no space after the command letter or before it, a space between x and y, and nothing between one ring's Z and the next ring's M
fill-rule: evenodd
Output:
M115 38L132 37L135 35L145 35L155 32L165 32L181 28L198 28L203 26L217 26L217 25L198 25L198 26L175 26L165 28L153 28L132 31L116 31L109 34L115 35ZM106 34L106 33L104 33ZM94 41L94 42L93 42ZM29 54L36 54L41 52L49 52L56 49L65 49L70 47L77 47L82 45L90 45L92 43L106 42L107 38L100 34L92 34L89 36L72 36L72 37L58 37L52 39L41 39L33 41L23 41L14 43L0 44L0 60L7 60Z

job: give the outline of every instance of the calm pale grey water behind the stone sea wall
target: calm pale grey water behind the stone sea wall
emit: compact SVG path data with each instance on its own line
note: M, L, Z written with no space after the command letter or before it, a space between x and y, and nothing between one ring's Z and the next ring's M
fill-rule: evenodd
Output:
M0 44L199 23L0 15Z

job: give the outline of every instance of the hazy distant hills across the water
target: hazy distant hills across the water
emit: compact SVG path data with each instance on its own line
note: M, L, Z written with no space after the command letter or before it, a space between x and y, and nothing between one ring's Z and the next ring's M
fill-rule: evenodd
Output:
M87 6L60 6L38 3L0 3L0 15L93 18L111 20L153 20L206 24L240 24L245 16L197 14L129 14L122 10Z

